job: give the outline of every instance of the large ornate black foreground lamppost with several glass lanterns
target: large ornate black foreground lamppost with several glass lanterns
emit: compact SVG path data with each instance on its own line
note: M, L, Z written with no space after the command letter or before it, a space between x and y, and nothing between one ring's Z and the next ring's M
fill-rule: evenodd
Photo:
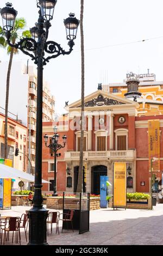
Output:
M28 245L47 245L46 219L48 211L42 207L42 78L43 66L49 59L70 54L74 46L73 40L76 39L79 20L70 14L64 24L69 51L64 51L57 42L47 41L50 21L53 19L54 8L57 0L37 0L39 8L39 19L35 27L31 29L32 38L23 38L16 44L11 43L11 31L17 11L12 8L11 3L0 9L3 21L3 29L7 38L8 45L20 49L24 54L30 56L37 65L37 119L36 119L36 156L35 156L35 193L33 197L34 206L29 210L29 243ZM52 54L45 56L45 53Z

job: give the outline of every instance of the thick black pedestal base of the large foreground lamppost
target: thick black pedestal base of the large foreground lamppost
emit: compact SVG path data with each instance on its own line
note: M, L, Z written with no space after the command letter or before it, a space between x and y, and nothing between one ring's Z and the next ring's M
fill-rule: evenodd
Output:
M47 224L48 211L42 207L33 206L28 211L29 242L28 245L48 245Z

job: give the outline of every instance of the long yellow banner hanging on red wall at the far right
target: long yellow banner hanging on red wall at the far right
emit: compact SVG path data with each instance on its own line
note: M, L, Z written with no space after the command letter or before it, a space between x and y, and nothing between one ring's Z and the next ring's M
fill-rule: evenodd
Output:
M149 170L151 170L151 159L158 160L152 162L153 171L160 170L160 121L148 120L148 154Z

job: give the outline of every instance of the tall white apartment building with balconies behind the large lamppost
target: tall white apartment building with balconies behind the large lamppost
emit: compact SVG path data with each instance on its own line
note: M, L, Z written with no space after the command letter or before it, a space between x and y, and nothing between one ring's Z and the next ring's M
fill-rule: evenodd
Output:
M1 107L5 106L5 87L8 62L0 63L1 76ZM33 170L35 168L35 135L36 135L36 100L37 100L37 70L36 66L24 65L23 62L13 62L10 76L9 111L17 113L18 119L28 127L27 154ZM42 121L54 120L55 99L49 89L49 84L43 81ZM30 136L30 139L29 139ZM30 147L29 147L30 141Z

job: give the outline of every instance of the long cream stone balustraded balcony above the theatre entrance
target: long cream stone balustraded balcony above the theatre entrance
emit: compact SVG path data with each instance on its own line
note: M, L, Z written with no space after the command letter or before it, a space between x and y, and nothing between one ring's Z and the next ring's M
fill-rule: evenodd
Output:
M65 160L79 160L80 152L70 151L65 152ZM110 151L84 151L84 160L134 160L136 150L110 150Z

